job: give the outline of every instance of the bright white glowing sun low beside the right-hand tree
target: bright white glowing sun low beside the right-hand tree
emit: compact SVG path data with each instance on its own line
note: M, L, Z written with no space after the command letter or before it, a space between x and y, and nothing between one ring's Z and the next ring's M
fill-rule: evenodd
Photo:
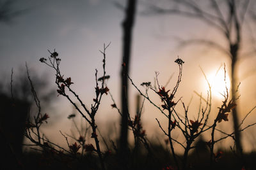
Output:
M226 93L227 89L228 91L230 89L230 78L227 73L225 75L225 70L223 67L218 69L218 71L212 71L208 74L205 74L205 76L211 85L212 96L222 99L223 96L221 94ZM205 88L209 90L209 86L206 81Z

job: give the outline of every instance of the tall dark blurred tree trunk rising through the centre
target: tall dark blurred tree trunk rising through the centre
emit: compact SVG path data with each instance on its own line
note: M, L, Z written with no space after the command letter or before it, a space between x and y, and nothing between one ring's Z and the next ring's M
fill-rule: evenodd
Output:
M127 7L125 10L125 18L122 23L123 27L123 46L122 46L122 71L121 71L121 98L122 98L122 121L120 131L120 152L126 155L128 151L128 114L129 114L129 97L128 97L128 78L129 62L131 58L131 44L132 44L132 27L134 25L134 17L136 12L136 0L127 0Z

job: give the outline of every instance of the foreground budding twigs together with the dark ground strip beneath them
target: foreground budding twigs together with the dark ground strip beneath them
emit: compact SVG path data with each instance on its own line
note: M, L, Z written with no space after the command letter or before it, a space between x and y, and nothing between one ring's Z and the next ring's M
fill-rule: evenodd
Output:
M218 108L218 113L215 113L214 119L210 121L209 115L212 112L212 96L211 96L211 85L209 84L209 91L207 98L200 96L200 102L204 101L204 104L200 105L198 115L196 118L191 118L189 114L189 107L182 101L182 98L177 98L176 93L179 90L179 85L182 80L182 67L184 61L180 58L175 60L175 63L179 66L179 75L173 89L166 89L160 85L158 81L158 74L156 73L156 85L153 87L150 82L141 83L144 89L140 90L138 86L132 81L132 78L127 75L131 81L133 87L138 90L140 95L143 97L143 103L141 109L137 111L134 118L129 114L128 129L132 132L134 137L134 144L130 145L129 152L127 153L128 163L122 164L122 157L120 157L120 150L116 147L116 143L113 139L105 139L102 134L100 134L100 129L97 127L95 115L100 106L100 101L103 96L110 94L109 89L106 85L106 79L110 76L106 75L105 65L106 65L106 49L109 45L104 45L104 50L101 52L103 55L103 76L97 78L97 69L95 73L95 97L93 97L90 109L86 107L78 94L72 89L72 78L65 77L61 74L60 70L60 56L57 52L50 52L50 56L46 58L41 58L40 62L51 67L56 73L55 83L58 89L58 96L63 96L76 108L77 112L84 120L86 120L87 126L84 129L79 129L74 121L76 115L71 114L68 119L74 121L76 125L76 130L79 132L79 138L76 136L63 135L63 139L67 141L67 148L60 146L56 143L52 143L51 139L45 138L44 134L40 131L42 124L47 122L49 115L47 113L41 112L40 100L36 95L36 91L33 88L33 82L28 79L31 84L31 92L34 96L36 106L38 108L37 114L33 119L28 119L26 122L26 138L31 141L30 147L34 150L40 151L39 153L33 153L36 156L36 165L30 165L30 168L61 168L61 169L252 169L255 167L252 159L255 155L236 155L236 150L228 152L225 150L214 150L214 145L219 141L225 140L227 138L234 139L234 144L236 140L234 137L234 132L227 133L218 129L219 124L225 124L228 121L228 114L232 109L236 107L234 100L230 99L228 89L226 87L226 92L223 94L223 101L221 106ZM225 67L224 67L225 70ZM226 70L225 70L226 73ZM206 79L206 77L205 77ZM207 80L207 79L206 79ZM148 94L148 91L152 90L156 96L160 99L159 104L154 103ZM73 97L71 97L73 96ZM116 109L120 116L122 117L122 112L118 108L113 96L111 96L113 104L111 104L113 109ZM143 122L141 122L141 111L145 101L153 104L154 107L159 110L160 114L168 120L167 129L165 126L157 120L159 129L163 132L166 138L161 139L166 143L157 144L154 139L147 138L147 129L143 128ZM79 108L81 105L81 108ZM176 110L177 105L182 106L184 114ZM88 105L87 105L88 106ZM253 108L254 109L254 108ZM250 111L248 115L252 113ZM211 113L214 114L214 113ZM246 117L243 118L241 125L244 123ZM244 131L248 127L255 124L247 125L240 129ZM82 133L82 131L84 131ZM179 131L180 134L184 136L183 139L175 139L173 137L173 132ZM216 139L214 134L216 131L221 132L223 137ZM202 134L209 132L211 138L207 141L202 139ZM94 143L86 141L87 137L94 140ZM70 143L70 139L74 139L76 142ZM101 142L100 142L101 141ZM106 141L111 141L111 145ZM102 150L105 145L106 150ZM181 146L184 149L183 154L177 153L177 146ZM231 154L232 153L232 154ZM32 153L31 153L32 154ZM28 155L30 157L30 155ZM36 158L38 157L38 158ZM234 162L234 160L240 160ZM196 160L196 158L200 158ZM250 158L250 159L248 159ZM28 166L28 165L27 165ZM29 166L28 166L29 168Z

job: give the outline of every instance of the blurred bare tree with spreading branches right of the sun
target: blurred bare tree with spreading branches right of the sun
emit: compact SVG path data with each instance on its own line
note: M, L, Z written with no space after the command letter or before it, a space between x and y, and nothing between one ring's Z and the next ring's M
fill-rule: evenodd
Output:
M154 2L154 1L153 1ZM230 74L231 74L231 96L233 102L236 102L236 86L239 82L237 75L239 69L239 59L248 59L249 57L255 57L255 50L248 48L248 45L254 43L246 43L248 39L244 41L244 30L248 29L250 32L248 35L251 37L251 41L255 41L252 36L252 29L250 28L251 20L253 23L253 16L255 16L255 1L244 0L209 0L209 1L193 1L193 0L170 0L170 1L156 1L157 3L148 3L148 12L157 14L169 14L179 15L186 18L194 18L202 21L204 24L209 25L211 29L220 35L218 41L214 39L205 38L189 38L180 39L180 46L187 45L204 45L209 48L218 50L230 59ZM164 5L163 5L163 4ZM254 4L253 4L254 3ZM160 5L159 5L160 4ZM162 4L162 5L161 5ZM172 22L172 21L171 21ZM222 41L226 41L227 45L221 44ZM246 49L244 48L246 44ZM244 49L243 49L244 48ZM250 50L248 50L250 49ZM250 72L249 72L250 73ZM254 71L252 72L254 73ZM247 75L248 76L248 73ZM236 108L232 110L234 131L236 131L236 150L239 154L243 155L243 145L241 143L241 129L239 129L239 114Z

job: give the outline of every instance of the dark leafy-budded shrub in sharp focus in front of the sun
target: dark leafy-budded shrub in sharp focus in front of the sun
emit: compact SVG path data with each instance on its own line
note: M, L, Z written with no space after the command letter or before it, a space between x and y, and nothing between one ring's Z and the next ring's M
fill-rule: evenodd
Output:
M214 122L212 124L209 124L209 115L211 113L211 106L212 106L212 104L211 104L212 96L211 96L211 85L207 81L208 85L209 85L209 91L207 94L207 99L204 99L205 108L203 108L200 105L200 109L198 111L198 116L197 116L196 120L191 120L191 118L189 118L190 116L189 116L189 112L188 112L189 106L186 106L186 104L184 104L184 102L182 101L182 98L177 99L175 101L175 94L179 88L180 81L182 78L182 66L184 64L184 61L182 59L178 58L177 60L175 60L175 62L179 66L179 76L176 81L175 87L173 87L173 90L167 90L167 89L165 89L165 87L159 85L159 81L157 78L159 73L156 73L157 87L155 87L155 88L151 87L150 82L141 83L141 85L143 87L146 87L145 94L143 94L143 92L141 92L141 90L138 89L138 87L134 84L134 82L132 81L132 79L129 76L128 76L128 78L129 78L129 80L131 80L132 85L138 90L138 92L140 92L141 96L143 96L151 104L153 104L168 119L168 128L166 130L163 128L163 126L161 125L159 120L157 120L157 118L156 118L156 121L157 121L157 124L159 125L161 131L163 131L164 135L168 137L168 140L170 143L170 148L172 151L172 156L175 161L177 169L180 169L180 166L182 166L182 169L188 169L189 150L195 148L195 146L193 145L193 143L195 142L195 139L207 131L211 131L211 140L209 142L207 142L207 145L210 148L210 154L211 154L210 159L211 159L211 163L213 163L214 161L220 159L220 157L223 153L223 152L218 152L218 153L213 152L215 143L217 143L218 141L221 141L222 139L225 139L227 137L231 137L232 139L234 139L234 142L236 143L236 139L234 137L235 132L232 132L231 134L227 134L226 132L220 131L219 129L218 129L218 131L225 134L225 137L217 139L217 140L214 139L214 132L216 131L217 124L220 124L222 122L222 120L228 121L228 113L230 113L230 111L236 107L236 103L234 102L234 99L230 99L230 97L228 95L228 89L226 87L226 92L223 94L223 98L224 98L223 103L219 107L218 113L215 115ZM224 70L225 70L225 67L224 67ZM205 76L205 74L204 74L204 76ZM226 70L225 70L225 76L226 76ZM205 76L205 79L207 80L206 76ZM153 90L157 94L157 96L160 97L161 103L162 103L161 108L159 106L157 106L157 104L155 104L148 96L148 88L150 90ZM200 96L201 100L202 100L202 98L203 97ZM183 107L184 115L180 114L175 109L175 107L179 103ZM165 110L167 113L165 112ZM247 117L247 115L246 115L246 117ZM243 124L243 122L241 122L241 124ZM252 124L252 125L255 125L255 124ZM244 127L243 129L241 129L241 131L244 131L244 129L247 129L248 127L250 127L252 125L248 125L248 126ZM179 129L180 133L183 134L184 138L186 139L186 145L184 144L184 142L182 143L182 141L179 141L179 140L173 138L172 132L175 131L175 129ZM182 146L182 148L184 148L184 153L183 153L181 159L179 156L177 156L177 153L176 153L177 151L175 150L173 143L177 143L180 146Z

